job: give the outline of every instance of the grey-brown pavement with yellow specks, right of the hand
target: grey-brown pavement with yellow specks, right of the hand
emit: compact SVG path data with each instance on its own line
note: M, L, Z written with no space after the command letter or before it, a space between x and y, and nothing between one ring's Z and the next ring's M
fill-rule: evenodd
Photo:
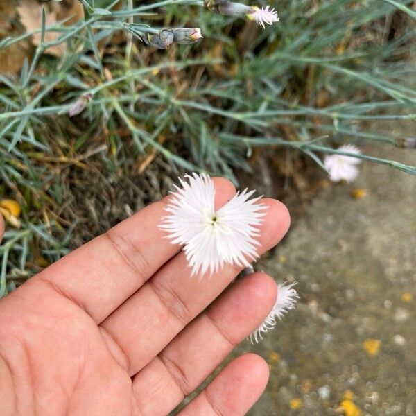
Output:
M378 155L416 165L416 150ZM375 151L368 153L376 155ZM263 342L266 393L250 415L416 415L416 177L364 163L331 185L259 267L300 302ZM354 189L365 189L354 198Z

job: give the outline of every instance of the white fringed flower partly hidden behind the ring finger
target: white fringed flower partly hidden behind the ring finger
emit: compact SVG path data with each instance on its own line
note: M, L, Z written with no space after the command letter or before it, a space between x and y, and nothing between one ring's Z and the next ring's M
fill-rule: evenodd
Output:
M281 318L283 318L290 309L295 307L295 304L299 299L297 291L295 291L293 288L295 284L296 282L286 285L285 282L278 286L275 305L263 323L250 335L250 340L252 343L258 343L259 340L262 340L263 334L276 326L276 318L281 320Z

